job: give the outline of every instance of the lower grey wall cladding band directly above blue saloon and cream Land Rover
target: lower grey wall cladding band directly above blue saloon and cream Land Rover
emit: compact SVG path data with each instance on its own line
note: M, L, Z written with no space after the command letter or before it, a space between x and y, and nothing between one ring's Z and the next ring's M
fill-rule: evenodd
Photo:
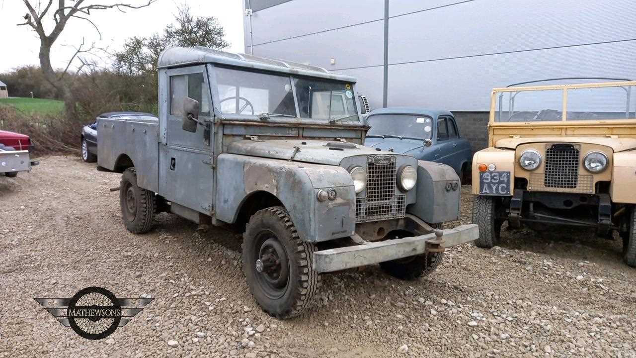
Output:
M635 53L633 41L389 66L389 106L488 111L493 87L590 74L630 77Z

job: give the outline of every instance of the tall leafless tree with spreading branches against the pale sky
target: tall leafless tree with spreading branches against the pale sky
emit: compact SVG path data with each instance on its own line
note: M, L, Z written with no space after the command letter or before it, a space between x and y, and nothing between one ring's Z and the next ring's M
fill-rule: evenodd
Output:
M66 73L69 71L73 60L76 59L76 57L78 57L78 55L80 54L90 52L93 46L90 48L86 48L84 41L82 41L81 45L79 45L79 47L76 47L76 52L69 60L64 71L62 71L61 73L59 71L56 72L51 64L51 48L53 47L53 43L55 43L57 38L59 38L60 34L62 34L62 31L64 31L64 27L66 27L67 22L69 22L71 18L79 18L81 20L89 22L91 25L93 25L93 27L95 27L97 32L99 32L99 28L97 27L97 25L95 25L95 23L92 22L90 18L88 18L91 11L116 9L125 12L126 9L144 8L152 4L155 0L144 0L147 2L144 2L140 5L128 3L86 4L85 0L38 0L37 3L35 3L34 0L23 1L29 12L27 12L27 14L24 16L24 22L22 24L18 24L18 26L30 26L38 34L38 37L40 39L40 68L42 69L46 80L50 82L51 85L55 87L55 89L58 90L60 94L62 94L62 97L64 97L67 114L73 115L74 99L71 91L67 88L66 85L64 85L64 75L66 75ZM33 6L33 4L31 4L32 2L35 3L36 6ZM42 6L44 6L43 9ZM43 24L43 20L45 18L50 19L50 17L53 17L53 22L55 25L53 26L53 29L47 34L45 26Z

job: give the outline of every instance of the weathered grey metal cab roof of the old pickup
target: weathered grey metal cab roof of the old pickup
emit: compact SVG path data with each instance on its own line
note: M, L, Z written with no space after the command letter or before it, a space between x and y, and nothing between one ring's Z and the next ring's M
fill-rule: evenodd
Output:
M352 76L330 73L326 69L318 66L286 60L268 59L247 54L233 54L232 52L219 51L214 50L214 48L202 46L166 48L159 56L157 67L176 68L207 63L275 71L288 73L290 75L312 76L344 82L356 82L356 78Z

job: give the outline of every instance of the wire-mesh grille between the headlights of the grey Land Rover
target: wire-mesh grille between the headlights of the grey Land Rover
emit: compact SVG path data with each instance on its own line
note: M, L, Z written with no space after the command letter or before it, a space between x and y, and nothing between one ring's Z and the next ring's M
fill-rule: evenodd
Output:
M396 195L396 171L394 155L378 154L367 157L366 194L364 197L356 197L356 222L404 217L406 196Z

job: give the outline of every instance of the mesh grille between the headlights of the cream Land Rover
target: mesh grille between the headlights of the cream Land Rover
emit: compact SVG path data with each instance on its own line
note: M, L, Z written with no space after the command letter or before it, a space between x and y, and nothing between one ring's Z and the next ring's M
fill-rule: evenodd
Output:
M593 192L594 177L579 174L579 145L546 145L544 173L530 173L528 190L548 192Z

